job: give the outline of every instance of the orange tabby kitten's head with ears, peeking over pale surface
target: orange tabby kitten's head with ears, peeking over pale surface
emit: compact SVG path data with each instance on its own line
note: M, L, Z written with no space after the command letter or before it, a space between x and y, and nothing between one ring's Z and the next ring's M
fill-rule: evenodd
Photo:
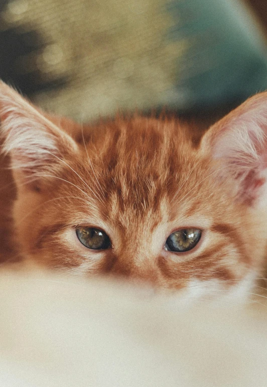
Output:
M264 254L266 102L266 93L249 99L194 148L177 120L118 117L82 127L2 83L24 256L192 294L242 283Z

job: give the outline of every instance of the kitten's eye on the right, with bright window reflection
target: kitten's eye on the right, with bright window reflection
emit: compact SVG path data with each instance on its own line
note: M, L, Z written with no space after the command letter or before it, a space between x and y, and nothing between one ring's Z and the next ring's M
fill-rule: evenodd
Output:
M164 248L169 251L183 253L193 249L199 242L201 237L201 230L197 228L185 228L175 231L167 239Z

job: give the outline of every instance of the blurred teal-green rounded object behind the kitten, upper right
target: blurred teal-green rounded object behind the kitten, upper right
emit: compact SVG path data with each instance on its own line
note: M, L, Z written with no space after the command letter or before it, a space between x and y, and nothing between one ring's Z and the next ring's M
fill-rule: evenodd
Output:
M180 109L211 108L245 100L267 89L263 36L238 0L175 0L168 3L175 25L169 41L185 40L175 87L165 103Z

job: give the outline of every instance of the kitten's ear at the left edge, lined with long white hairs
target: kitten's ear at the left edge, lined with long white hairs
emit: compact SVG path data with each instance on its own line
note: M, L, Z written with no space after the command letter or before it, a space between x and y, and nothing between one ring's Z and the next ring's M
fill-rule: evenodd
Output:
M40 176L58 164L76 142L19 93L0 81L1 136L3 151L20 178Z

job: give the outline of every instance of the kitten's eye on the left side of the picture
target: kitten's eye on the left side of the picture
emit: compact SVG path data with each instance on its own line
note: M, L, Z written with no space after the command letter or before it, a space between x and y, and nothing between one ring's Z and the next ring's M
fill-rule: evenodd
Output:
M105 250L111 247L111 242L104 231L92 227L76 229L78 240L88 249Z

